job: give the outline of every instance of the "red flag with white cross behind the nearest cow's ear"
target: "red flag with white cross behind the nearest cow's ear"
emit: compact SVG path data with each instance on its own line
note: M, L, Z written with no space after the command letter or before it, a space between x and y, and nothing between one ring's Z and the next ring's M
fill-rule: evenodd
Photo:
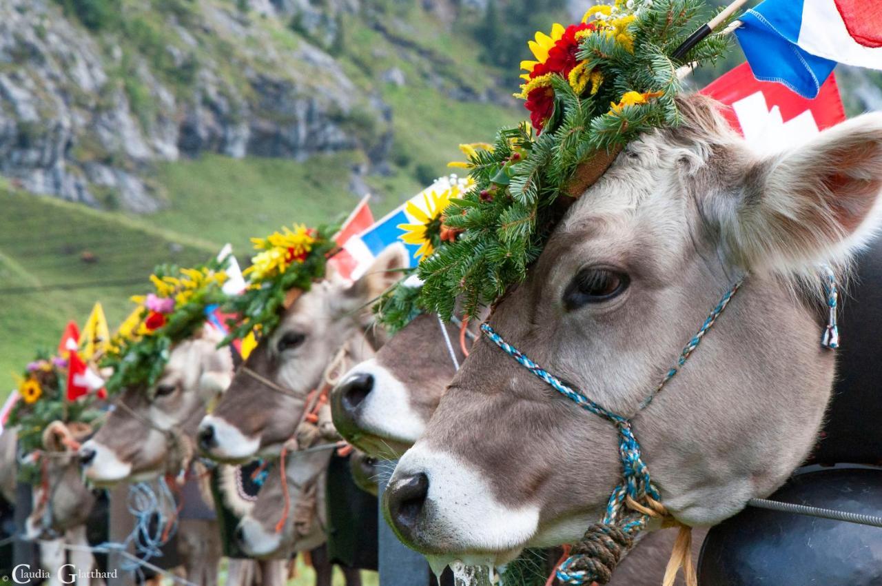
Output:
M701 90L726 104L729 124L759 150L794 146L845 120L835 75L808 100L781 84L758 81L749 64L738 65Z

